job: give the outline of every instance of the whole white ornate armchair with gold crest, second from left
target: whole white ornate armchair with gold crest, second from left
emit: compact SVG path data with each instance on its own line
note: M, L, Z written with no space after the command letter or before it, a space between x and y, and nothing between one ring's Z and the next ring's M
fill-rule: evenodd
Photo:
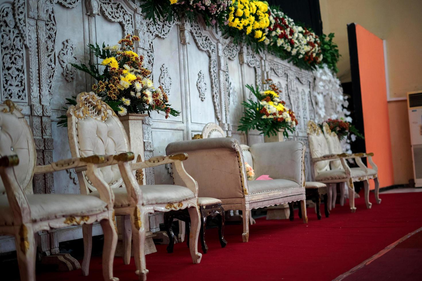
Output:
M144 242L148 225L148 214L154 211L171 211L188 208L191 220L189 249L194 263L199 263L202 254L197 251L200 214L197 209L198 187L195 180L183 167L187 155L155 156L147 161L130 164L133 159L126 132L114 111L93 92L80 93L77 105L68 109L68 137L72 156L81 157L96 153L114 156L114 166L104 167L100 173L115 195L116 215L129 215L132 226L133 249L136 274L146 280ZM138 185L133 170L170 164L180 185ZM99 196L84 171L77 171L81 193ZM125 188L122 187L124 184ZM121 187L121 188L119 188ZM129 224L129 223L128 223ZM127 229L126 229L127 231ZM124 234L124 263L130 262L130 230ZM84 251L91 254L92 227L84 227ZM89 265L82 264L87 273Z

